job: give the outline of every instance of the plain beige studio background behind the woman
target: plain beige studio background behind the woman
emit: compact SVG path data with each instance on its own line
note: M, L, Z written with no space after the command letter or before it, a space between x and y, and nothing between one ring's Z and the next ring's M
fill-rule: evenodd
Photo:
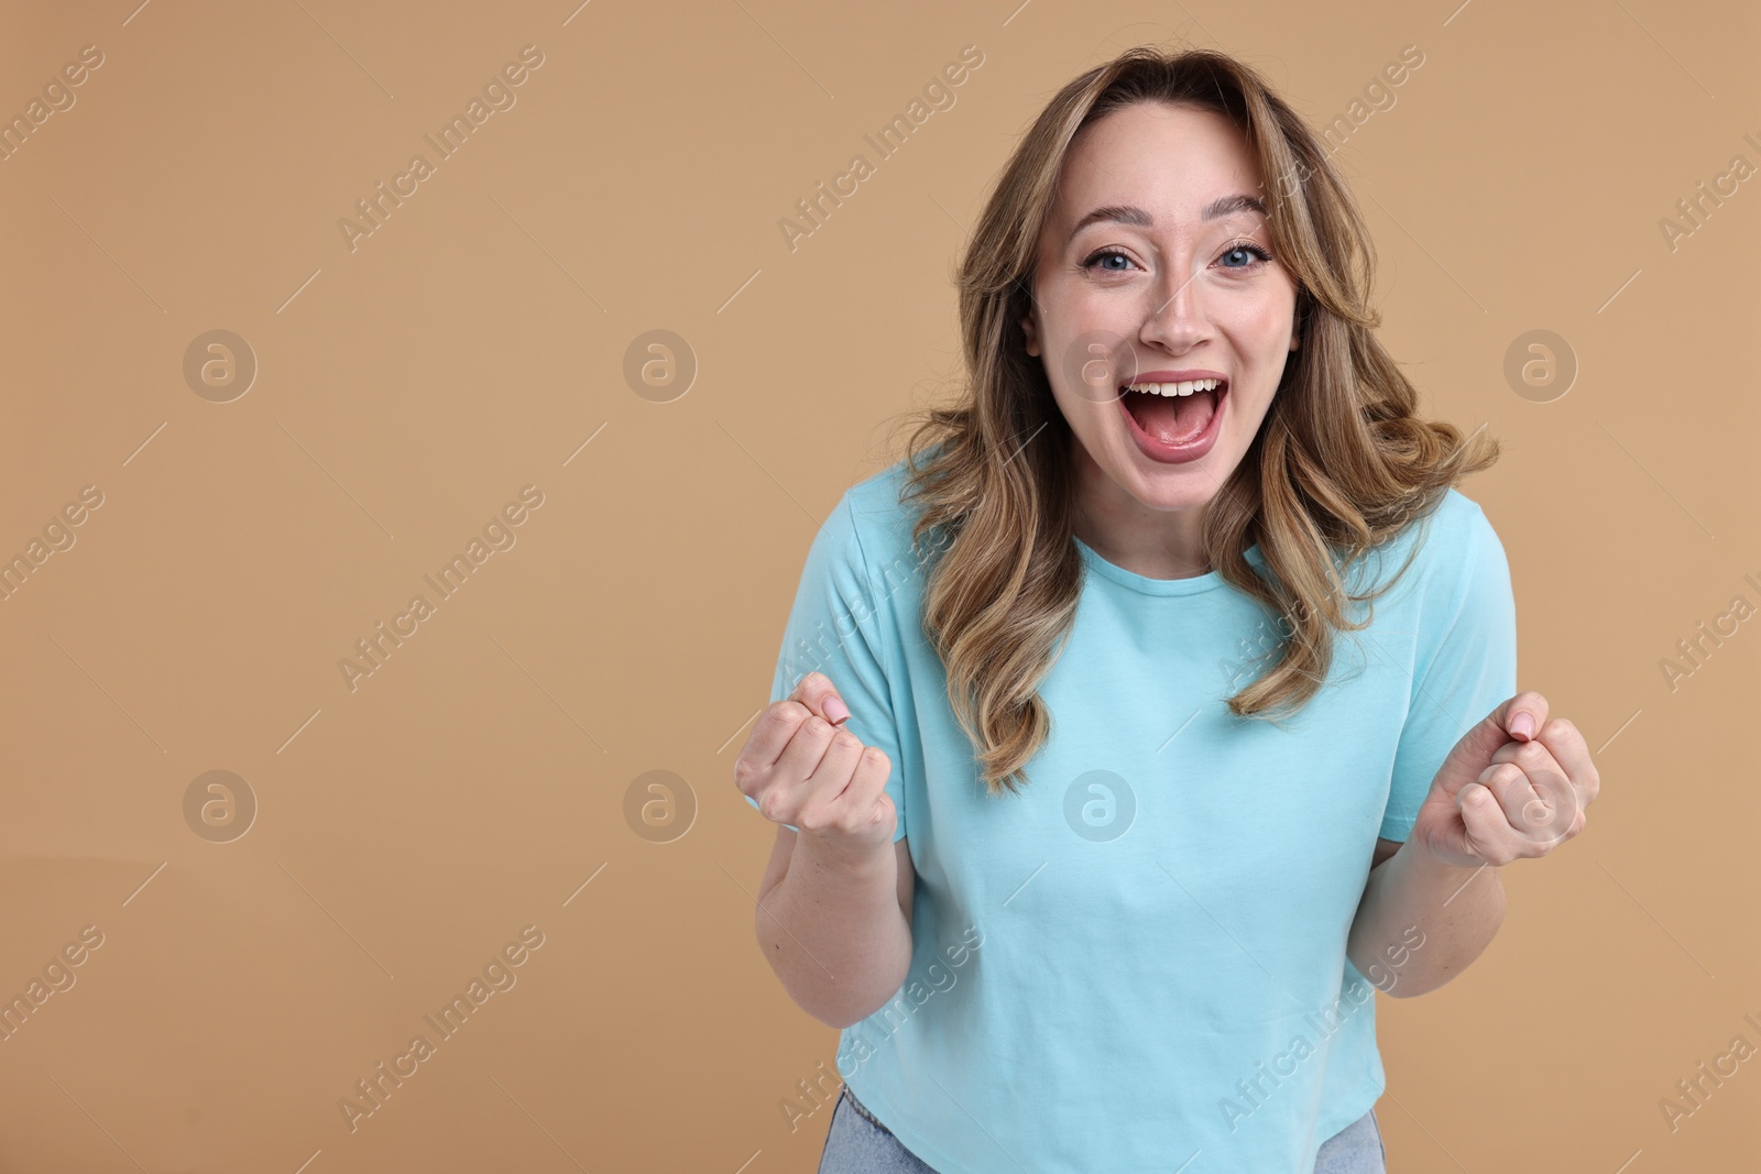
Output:
M104 55L0 162L0 554L104 496L0 602L0 994L104 935L0 1042L0 1170L812 1170L829 1112L778 1100L836 1033L754 945L771 825L729 769L819 519L954 370L1014 136L1169 37L1315 121L1423 51L1338 153L1382 336L1504 440L1463 491L1522 685L1599 748L1588 831L1506 869L1486 956L1381 1000L1391 1167L1761 1163L1761 1060L1659 1111L1761 1046L1761 620L1659 667L1761 604L1761 180L1659 229L1761 165L1752 5L136 4L9 5L0 40L4 114ZM338 220L527 44L516 104L350 252ZM791 252L794 201L967 44L956 104ZM213 329L259 364L231 403L183 378ZM653 329L697 363L669 403L623 377ZM1580 363L1550 403L1502 373L1532 329ZM350 692L354 641L528 484L516 546ZM185 822L213 769L259 804L231 843ZM625 817L657 769L696 799L669 843ZM523 926L518 984L350 1132L338 1100Z

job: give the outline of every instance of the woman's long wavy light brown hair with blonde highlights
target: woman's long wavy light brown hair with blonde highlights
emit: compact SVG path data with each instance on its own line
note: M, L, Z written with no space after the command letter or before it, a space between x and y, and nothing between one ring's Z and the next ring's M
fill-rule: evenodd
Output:
M1044 361L1025 350L1041 227L1078 132L1134 102L1217 111L1266 176L1273 253L1296 282L1298 350L1249 451L1205 510L1203 542L1222 579L1278 618L1275 664L1227 699L1236 716L1275 718L1324 683L1333 630L1358 630L1342 563L1423 519L1499 444L1419 419L1418 391L1372 333L1375 255L1324 143L1249 65L1210 49L1134 46L1064 86L1002 169L960 260L965 359L956 407L928 408L905 452L902 503L912 540L940 528L923 632L990 794L1027 783L1051 730L1037 695L1081 595L1072 542L1074 435ZM1245 558L1252 544L1271 572ZM1409 560L1411 561L1411 556ZM1402 572L1405 572L1405 565ZM1396 576L1398 579L1398 576Z

